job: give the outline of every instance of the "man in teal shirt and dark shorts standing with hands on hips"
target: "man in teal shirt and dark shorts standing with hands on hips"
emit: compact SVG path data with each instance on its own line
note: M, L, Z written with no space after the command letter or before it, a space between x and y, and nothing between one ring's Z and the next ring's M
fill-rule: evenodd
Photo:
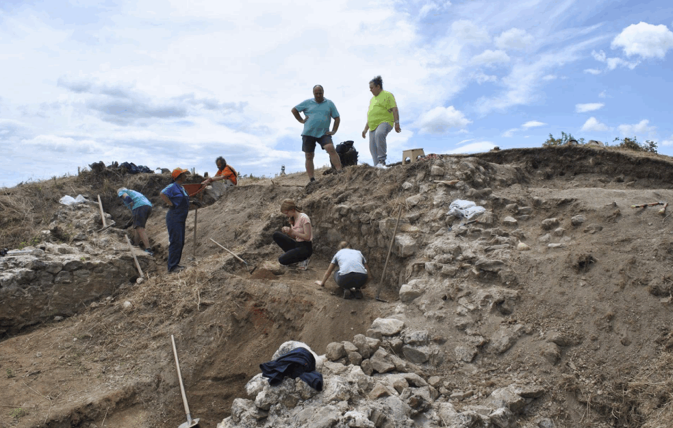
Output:
M299 114L304 112L304 118ZM313 87L313 98L309 98L292 108L292 114L299 123L304 124L301 133L301 151L306 155L306 174L309 176L309 184L315 181L313 158L316 151L316 142L329 154L329 160L337 171L341 171L341 160L334 149L332 136L339 129L341 118L336 106L332 101L325 98L325 90L322 86ZM334 119L332 130L329 123Z

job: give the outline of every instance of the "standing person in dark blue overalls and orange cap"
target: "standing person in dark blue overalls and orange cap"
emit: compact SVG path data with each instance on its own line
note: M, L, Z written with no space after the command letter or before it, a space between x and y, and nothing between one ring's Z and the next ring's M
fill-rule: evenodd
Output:
M173 183L162 190L160 196L162 201L168 205L166 212L166 228L168 229L168 272L179 272L185 266L179 264L182 258L182 248L185 245L185 229L187 222L187 212L189 210L190 199L185 188L182 187L186 181L186 169L175 168L173 173ZM198 201L193 201L198 205Z

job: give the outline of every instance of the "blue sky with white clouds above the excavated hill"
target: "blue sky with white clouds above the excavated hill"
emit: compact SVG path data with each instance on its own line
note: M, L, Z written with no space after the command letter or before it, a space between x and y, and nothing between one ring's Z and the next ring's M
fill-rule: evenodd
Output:
M321 84L361 138L383 77L403 149L539 147L548 134L673 154L670 1L0 3L0 186L102 160L304 170L290 110ZM316 152L316 166L327 164Z

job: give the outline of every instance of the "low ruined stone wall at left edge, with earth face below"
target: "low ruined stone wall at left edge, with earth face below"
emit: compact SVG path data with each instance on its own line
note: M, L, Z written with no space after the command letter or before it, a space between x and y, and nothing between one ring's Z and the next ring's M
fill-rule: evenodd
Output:
M110 218L110 214L107 214ZM108 220L109 221L109 220ZM0 334L55 317L71 316L84 305L132 284L138 275L123 231L101 229L97 205L78 203L55 213L38 247L0 257ZM149 255L136 251L141 266Z

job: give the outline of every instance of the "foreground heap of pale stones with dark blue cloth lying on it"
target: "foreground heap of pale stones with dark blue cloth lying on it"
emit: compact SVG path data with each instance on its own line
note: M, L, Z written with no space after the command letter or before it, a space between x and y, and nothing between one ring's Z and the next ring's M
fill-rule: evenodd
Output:
M277 386L256 375L246 385L250 399L235 399L231 416L218 428L253 427L487 427L517 426L516 415L544 393L539 386L512 384L494 390L481 403L461 406L473 391L451 391L441 377L429 376L436 365L437 342L426 330L404 329L402 320L377 318L367 336L333 342L316 366L324 377L318 392L301 379L285 378ZM286 342L274 355L301 346Z

